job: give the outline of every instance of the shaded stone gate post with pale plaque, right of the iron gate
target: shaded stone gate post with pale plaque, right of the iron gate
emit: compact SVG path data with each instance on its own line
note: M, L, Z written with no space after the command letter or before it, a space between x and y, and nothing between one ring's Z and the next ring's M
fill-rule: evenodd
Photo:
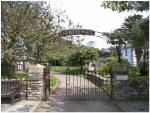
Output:
M111 96L113 100L124 100L130 97L130 82L128 73L127 64L116 63L111 66Z

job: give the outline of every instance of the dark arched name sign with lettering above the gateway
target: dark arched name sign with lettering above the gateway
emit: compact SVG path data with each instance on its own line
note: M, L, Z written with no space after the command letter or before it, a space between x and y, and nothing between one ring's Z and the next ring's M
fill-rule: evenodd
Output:
M70 36L70 35L95 35L95 31L88 29L69 29L62 30L59 36Z

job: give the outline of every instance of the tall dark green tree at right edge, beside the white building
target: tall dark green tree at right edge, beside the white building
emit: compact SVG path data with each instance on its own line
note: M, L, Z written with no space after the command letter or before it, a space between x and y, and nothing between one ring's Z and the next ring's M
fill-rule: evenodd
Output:
M135 50L137 58L137 66L141 69L141 75L148 74L144 71L149 61L149 19L142 18L141 15L129 16L123 28L128 32L128 41L131 43L132 48Z

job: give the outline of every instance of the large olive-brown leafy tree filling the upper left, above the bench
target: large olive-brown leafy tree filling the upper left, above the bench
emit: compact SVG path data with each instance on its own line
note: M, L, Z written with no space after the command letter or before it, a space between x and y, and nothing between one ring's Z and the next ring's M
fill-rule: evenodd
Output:
M36 63L39 63L43 60L43 56L49 56L45 51L58 47L53 43L68 43L57 35L64 29L62 23L69 21L63 11L52 12L46 2L3 1L1 3L3 63L12 64L16 56L22 59L24 55L35 57ZM69 47L65 46L66 50ZM55 49L54 53L60 56L61 51L62 49L58 51ZM48 56L46 60L49 59Z

